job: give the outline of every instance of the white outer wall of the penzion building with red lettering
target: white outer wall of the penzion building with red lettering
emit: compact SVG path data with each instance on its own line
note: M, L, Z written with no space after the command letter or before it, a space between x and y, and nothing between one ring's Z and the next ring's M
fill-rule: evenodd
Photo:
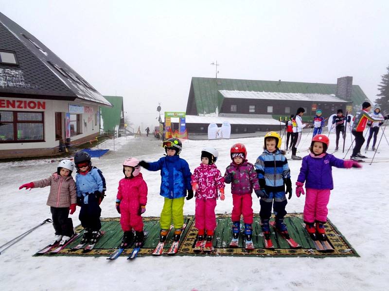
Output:
M16 100L16 104L21 104L19 108L6 108L6 100ZM44 109L20 108L24 107L29 101L44 102ZM80 134L71 137L71 144L78 144L92 139L99 134L99 118L96 114L99 112L99 106L88 104L87 102L58 101L44 99L25 99L25 98L7 98L0 97L0 111L22 111L22 112L43 112L44 118L44 142L10 142L0 141L0 158L22 157L22 156L42 156L57 153L59 150L59 141L55 139L55 113L61 112L62 118L62 139L65 140L66 113L69 112L69 104L83 105L88 108L88 112L80 113ZM97 121L97 123L96 123Z

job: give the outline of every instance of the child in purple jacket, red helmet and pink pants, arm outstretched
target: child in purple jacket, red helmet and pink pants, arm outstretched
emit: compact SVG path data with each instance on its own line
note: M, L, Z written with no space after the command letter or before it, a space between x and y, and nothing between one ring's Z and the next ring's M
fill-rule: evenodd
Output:
M330 140L326 135L318 134L312 139L310 154L302 159L299 177L296 182L296 195L305 194L302 186L305 182L304 223L312 239L327 240L324 224L327 222L327 205L330 190L334 189L332 167L361 168L352 160L340 160L327 154ZM316 228L314 223L316 222Z

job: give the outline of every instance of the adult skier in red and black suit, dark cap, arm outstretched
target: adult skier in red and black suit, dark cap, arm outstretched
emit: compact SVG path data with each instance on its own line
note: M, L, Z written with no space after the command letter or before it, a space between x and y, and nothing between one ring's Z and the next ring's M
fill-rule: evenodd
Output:
M359 161L359 159L366 159L367 157L360 154L361 147L365 142L365 138L363 137L363 130L365 130L366 124L368 120L372 122L381 122L388 119L388 115L383 117L372 117L369 115L369 111L371 110L371 104L369 102L362 103L362 110L359 110L355 113L354 123L351 133L355 137L355 146L353 153L350 157L352 160ZM382 115L381 115L382 116Z

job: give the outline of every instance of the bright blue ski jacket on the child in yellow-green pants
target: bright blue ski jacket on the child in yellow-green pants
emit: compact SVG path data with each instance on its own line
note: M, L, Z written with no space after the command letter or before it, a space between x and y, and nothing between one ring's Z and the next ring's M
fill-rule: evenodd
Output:
M161 171L160 195L163 197L185 197L187 190L192 190L192 173L188 162L179 156L165 156L157 162L150 162L148 170Z

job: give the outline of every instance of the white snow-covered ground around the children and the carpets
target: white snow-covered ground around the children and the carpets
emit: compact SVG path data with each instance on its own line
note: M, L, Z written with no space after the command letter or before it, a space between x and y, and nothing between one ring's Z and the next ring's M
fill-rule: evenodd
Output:
M349 134L349 133L348 133ZM308 137L301 139L300 155L305 156ZM381 136L381 132L378 137ZM386 130L389 136L389 130ZM329 152L335 148L335 134L330 135ZM193 169L200 163L203 146L219 150L217 166L224 174L230 163L230 146L242 142L248 149L249 162L262 153L263 137L239 140L185 141L181 157ZM378 143L378 142L377 142ZM342 144L342 139L341 143ZM350 134L346 150L351 144ZM107 182L102 217L116 217L115 198L118 181L123 177L122 162L129 156L156 161L164 153L153 137L127 137L106 141L99 148L110 151L93 159ZM364 148L364 147L363 147ZM302 150L304 149L304 150ZM246 258L246 257L142 257L129 262L125 258L109 262L106 258L32 257L53 237L53 226L40 226L0 255L0 289L8 290L388 290L388 174L389 146L385 138L379 146L377 161L362 169L333 169L335 189L329 203L329 219L352 244L360 258ZM364 151L362 151L364 153ZM338 158L344 154L337 152ZM369 151L367 156L372 157ZM290 158L290 153L287 154ZM49 187L31 191L18 190L25 182L49 177L57 162L35 160L0 163L0 245L51 217L46 206ZM290 161L295 183L301 161ZM159 196L159 172L142 169L149 188L144 215L159 216L163 198ZM74 176L74 174L73 174ZM294 191L295 189L293 189ZM259 201L253 195L254 211ZM302 212L304 196L295 194L288 201L288 212ZM218 201L217 213L230 212L230 186L226 199ZM71 215L79 224L79 208ZM195 200L185 202L185 214L195 213ZM387 274L387 275L385 275Z

